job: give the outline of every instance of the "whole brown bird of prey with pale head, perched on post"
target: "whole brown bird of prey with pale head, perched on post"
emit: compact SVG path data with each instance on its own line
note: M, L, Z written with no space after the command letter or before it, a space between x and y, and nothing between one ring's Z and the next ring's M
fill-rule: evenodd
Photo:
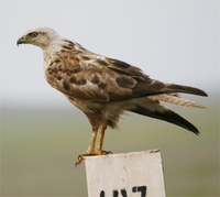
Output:
M110 153L102 151L105 131L107 127L117 128L123 111L164 120L199 134L195 125L160 101L206 108L178 94L208 96L201 89L151 79L140 68L92 53L44 25L26 31L16 44L33 44L43 50L47 83L79 108L91 124L90 144L79 154L76 164L80 164L84 156Z

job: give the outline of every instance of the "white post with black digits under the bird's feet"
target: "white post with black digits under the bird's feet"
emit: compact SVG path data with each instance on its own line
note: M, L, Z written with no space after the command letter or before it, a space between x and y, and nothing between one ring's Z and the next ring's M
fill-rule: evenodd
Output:
M160 150L86 157L89 197L165 197Z

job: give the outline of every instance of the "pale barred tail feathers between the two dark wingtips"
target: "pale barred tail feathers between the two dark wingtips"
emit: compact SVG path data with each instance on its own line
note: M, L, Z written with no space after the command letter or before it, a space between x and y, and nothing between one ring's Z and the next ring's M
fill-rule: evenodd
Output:
M152 100L161 100L169 103L175 103L178 106L185 106L185 107L190 107L190 108L207 108L202 103L198 103L185 98L180 98L177 94L162 94L162 95L154 95L154 96L148 96L147 98Z

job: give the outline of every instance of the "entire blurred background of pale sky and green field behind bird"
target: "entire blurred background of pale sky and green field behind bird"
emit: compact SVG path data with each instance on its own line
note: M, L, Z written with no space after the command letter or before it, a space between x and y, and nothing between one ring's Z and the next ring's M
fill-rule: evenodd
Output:
M84 162L91 134L85 114L44 79L43 54L16 40L37 25L151 78L195 86L209 109L167 105L200 136L176 125L122 116L108 129L113 153L161 149L167 196L219 196L218 0L1 0L1 196L87 196Z

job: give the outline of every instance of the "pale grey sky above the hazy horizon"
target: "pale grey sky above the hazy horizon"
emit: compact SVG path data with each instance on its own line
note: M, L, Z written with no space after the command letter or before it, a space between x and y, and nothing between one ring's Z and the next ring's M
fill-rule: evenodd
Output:
M70 105L50 87L42 50L18 39L47 25L151 78L219 91L218 0L1 0L1 107Z

